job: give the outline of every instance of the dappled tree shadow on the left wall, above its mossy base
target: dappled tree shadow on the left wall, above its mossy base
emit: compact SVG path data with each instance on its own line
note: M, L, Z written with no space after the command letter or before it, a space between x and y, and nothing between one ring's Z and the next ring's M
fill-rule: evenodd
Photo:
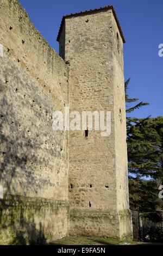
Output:
M26 196L30 191L37 194L41 184L46 186L49 182L40 175L42 165L48 159L36 155L42 146L36 132L42 127L38 126L35 133L30 131L35 127L34 116L41 119L41 114L39 111L35 111L35 115L30 114L34 110L31 110L29 100L26 95L19 93L19 89L15 89L20 84L25 87L26 78L22 82L19 77L11 77L9 68L5 72L10 75L8 79L5 74L1 76L5 83L0 78L0 94L3 95L0 100L0 184L4 187L4 193Z

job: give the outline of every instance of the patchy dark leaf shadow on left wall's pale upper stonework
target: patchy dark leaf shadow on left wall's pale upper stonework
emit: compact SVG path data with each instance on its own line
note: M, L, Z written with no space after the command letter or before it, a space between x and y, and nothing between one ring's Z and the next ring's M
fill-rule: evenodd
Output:
M4 105L8 105L5 99L3 102ZM16 120L16 113L11 109L12 105L8 105L8 110L1 114L0 120L0 141L3 147L1 149L0 180L7 193L15 194L17 187L24 188L25 184L21 177L25 178L25 182L28 182L28 184L26 183L28 190L32 189L36 193L34 168L32 166L29 168L27 165L29 157L31 165L38 161L36 155L29 156L30 149L34 148L34 145L30 138L20 139L20 137L26 138L25 131L20 131L21 125ZM6 126L8 126L8 130L10 129L9 134L4 131ZM26 195L25 190L23 191Z

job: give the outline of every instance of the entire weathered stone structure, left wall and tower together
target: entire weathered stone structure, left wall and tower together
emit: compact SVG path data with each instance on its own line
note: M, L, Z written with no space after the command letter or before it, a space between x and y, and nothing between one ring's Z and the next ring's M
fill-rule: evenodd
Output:
M0 0L2 244L52 242L69 220L73 235L131 236L120 31L111 9L65 25L61 58L17 0ZM111 135L54 132L65 106L111 111Z

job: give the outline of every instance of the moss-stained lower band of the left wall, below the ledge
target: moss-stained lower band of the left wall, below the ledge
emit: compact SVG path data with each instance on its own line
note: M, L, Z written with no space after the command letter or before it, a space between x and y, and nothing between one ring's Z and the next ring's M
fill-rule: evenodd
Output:
M65 201L5 195L0 200L0 244L53 242L67 235L68 218L69 205ZM61 229L64 235L59 235Z

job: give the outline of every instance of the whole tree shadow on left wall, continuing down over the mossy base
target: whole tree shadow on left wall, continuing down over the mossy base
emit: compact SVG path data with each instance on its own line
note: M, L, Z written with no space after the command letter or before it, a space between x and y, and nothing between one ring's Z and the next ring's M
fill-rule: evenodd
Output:
M0 80L0 93L5 91L3 83ZM21 129L23 119L17 118L11 102L4 93L0 102L0 184L5 188L4 199L0 201L0 243L3 240L3 243L9 244L42 245L46 243L42 223L37 223L36 227L35 213L24 215L23 207L28 208L28 205L16 205L15 200L12 197L8 199L7 195L18 194L17 187L21 188L23 196L26 196L27 189L36 194L39 186L34 175L34 163L39 164L39 159L35 154L30 154L35 141L27 136L27 127Z

